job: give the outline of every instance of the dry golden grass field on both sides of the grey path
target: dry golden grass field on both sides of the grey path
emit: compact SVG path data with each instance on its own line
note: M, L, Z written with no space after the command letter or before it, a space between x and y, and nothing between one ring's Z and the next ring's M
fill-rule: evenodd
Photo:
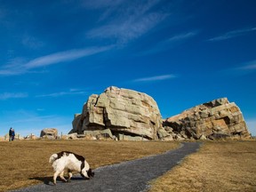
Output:
M52 180L52 153L73 151L92 169L163 153L179 142L34 140L0 142L0 191ZM256 191L256 141L204 142L195 154L151 182L149 192Z

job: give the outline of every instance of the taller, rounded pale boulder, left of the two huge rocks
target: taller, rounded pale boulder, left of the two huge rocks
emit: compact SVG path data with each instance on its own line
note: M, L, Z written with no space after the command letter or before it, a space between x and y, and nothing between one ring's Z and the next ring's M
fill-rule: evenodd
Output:
M162 116L147 94L112 86L100 95L92 94L72 124L69 133L109 129L116 136L122 133L156 140Z

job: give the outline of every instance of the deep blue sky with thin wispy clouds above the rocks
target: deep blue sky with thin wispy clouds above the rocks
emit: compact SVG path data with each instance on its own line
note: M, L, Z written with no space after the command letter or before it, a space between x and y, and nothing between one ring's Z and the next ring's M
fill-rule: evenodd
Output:
M256 135L256 1L0 0L0 135L67 134L92 93L152 96L164 118L228 97Z

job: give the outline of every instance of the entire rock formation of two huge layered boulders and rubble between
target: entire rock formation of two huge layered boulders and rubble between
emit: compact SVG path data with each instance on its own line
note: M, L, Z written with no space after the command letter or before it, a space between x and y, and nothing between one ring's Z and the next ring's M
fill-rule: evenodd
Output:
M227 98L212 100L163 120L156 101L142 92L108 87L92 94L76 114L72 139L215 140L250 138L241 110ZM72 134L74 133L74 134Z

